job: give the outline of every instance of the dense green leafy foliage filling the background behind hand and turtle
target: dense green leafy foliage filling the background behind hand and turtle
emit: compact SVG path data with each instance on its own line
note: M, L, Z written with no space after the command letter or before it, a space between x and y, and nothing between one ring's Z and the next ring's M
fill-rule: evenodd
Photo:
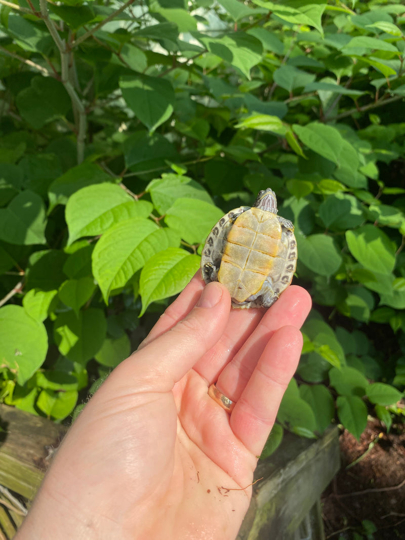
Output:
M403 416L401 2L0 4L4 402L70 415L272 187L314 309L264 455Z

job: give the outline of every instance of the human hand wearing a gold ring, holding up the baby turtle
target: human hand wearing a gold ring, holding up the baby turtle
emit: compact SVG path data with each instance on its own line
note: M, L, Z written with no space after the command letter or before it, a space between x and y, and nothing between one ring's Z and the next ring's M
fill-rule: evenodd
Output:
M73 423L16 539L237 536L311 300L290 286L267 311L230 305L194 276Z

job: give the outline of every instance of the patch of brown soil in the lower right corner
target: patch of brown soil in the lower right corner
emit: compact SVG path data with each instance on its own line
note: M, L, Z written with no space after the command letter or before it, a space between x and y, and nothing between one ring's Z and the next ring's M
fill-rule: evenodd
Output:
M342 467L322 495L326 538L405 540L404 424L393 425L387 434L379 420L369 420L360 441L343 431L340 450ZM369 536L363 520L375 525Z

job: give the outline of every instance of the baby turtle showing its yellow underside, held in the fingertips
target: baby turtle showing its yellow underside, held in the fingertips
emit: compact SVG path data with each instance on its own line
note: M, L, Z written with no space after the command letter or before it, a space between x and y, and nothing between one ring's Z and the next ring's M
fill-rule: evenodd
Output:
M296 240L291 221L277 215L270 188L254 206L240 206L212 228L201 255L206 284L219 281L232 306L270 307L288 287L296 267Z

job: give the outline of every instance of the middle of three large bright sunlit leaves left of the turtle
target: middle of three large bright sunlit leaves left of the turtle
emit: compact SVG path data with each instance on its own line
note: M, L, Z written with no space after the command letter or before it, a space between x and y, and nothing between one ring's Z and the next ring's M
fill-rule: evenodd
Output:
M152 255L178 245L176 232L159 229L149 219L131 218L111 227L92 254L93 275L105 302L110 292L123 287Z

